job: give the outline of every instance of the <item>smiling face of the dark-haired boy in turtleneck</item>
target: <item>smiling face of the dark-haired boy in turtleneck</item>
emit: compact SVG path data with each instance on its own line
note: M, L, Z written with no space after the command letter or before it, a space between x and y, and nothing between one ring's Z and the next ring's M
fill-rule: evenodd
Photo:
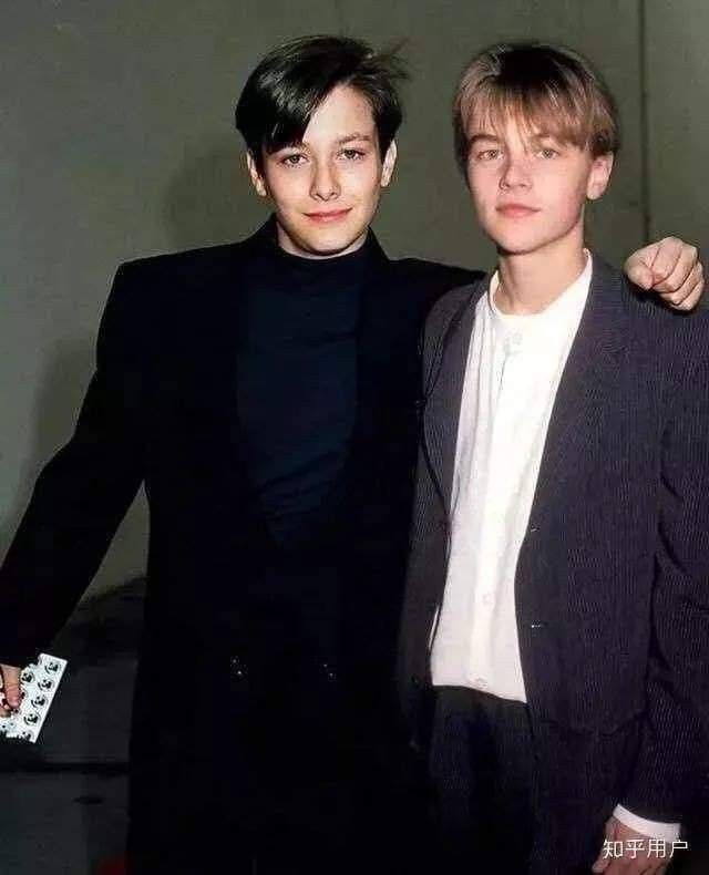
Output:
M248 166L258 194L274 202L280 246L331 258L364 243L395 158L393 143L380 157L369 101L338 86L312 114L302 143L264 152L260 171L249 155Z

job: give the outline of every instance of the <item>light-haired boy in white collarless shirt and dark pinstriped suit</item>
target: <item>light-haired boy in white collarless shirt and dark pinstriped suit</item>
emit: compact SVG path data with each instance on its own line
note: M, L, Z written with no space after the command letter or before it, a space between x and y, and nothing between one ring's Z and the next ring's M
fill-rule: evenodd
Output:
M707 744L707 315L584 248L618 147L585 59L482 52L455 130L499 261L427 323L400 665L442 871L659 873Z

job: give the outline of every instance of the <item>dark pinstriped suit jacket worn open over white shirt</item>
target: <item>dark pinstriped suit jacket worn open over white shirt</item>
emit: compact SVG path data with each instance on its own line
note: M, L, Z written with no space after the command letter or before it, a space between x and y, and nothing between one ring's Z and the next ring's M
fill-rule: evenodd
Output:
M444 296L425 328L398 672L414 729L430 688L458 416L486 285ZM554 792L596 794L658 821L681 820L707 753L708 378L707 315L665 310L595 258L515 578L527 701ZM572 737L608 754L584 786L580 764L564 765L559 739Z

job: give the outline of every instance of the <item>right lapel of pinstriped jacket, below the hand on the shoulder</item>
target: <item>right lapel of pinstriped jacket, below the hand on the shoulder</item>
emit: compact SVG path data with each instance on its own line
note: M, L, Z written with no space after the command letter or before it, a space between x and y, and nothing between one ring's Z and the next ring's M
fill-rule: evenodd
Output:
M565 485L597 433L626 346L627 295L623 276L594 257L588 300L549 419L531 525L564 501Z

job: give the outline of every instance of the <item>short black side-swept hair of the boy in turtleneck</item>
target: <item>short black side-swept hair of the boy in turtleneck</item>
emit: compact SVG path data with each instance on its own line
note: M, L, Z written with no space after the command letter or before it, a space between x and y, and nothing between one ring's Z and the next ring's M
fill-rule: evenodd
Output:
M236 105L236 127L260 167L261 148L299 143L332 89L351 85L371 104L383 157L401 124L397 84L405 78L393 50L377 54L349 37L301 37L274 49L250 74Z

